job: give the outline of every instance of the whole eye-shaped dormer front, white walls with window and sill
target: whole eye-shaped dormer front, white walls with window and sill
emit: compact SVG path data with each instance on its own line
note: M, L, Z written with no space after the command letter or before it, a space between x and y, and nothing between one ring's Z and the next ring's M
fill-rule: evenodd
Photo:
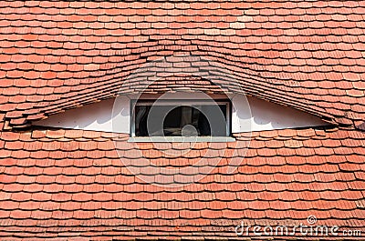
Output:
M172 93L165 98L120 95L51 115L34 125L126 134L130 142L230 142L239 133L327 124L317 116L252 97L246 102L241 95L204 98Z

